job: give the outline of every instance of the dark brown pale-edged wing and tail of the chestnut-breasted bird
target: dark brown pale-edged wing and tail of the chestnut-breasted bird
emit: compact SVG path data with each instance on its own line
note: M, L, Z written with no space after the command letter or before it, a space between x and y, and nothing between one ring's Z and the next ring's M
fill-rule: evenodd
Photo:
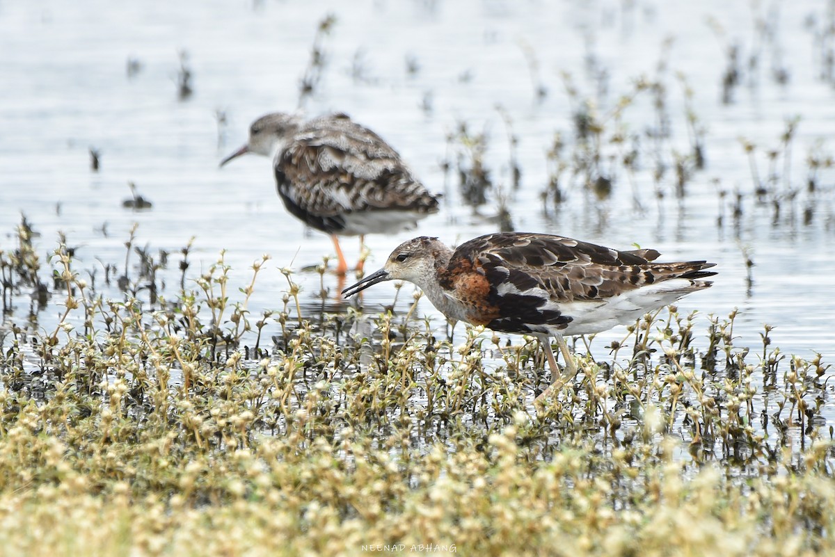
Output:
M548 332L572 321L560 304L605 302L630 290L672 278L691 281L682 295L706 288L697 281L715 273L713 263L652 263L652 249L619 251L572 238L535 233L495 233L461 244L444 273L451 288L458 275L478 273L490 285L487 324L506 332Z

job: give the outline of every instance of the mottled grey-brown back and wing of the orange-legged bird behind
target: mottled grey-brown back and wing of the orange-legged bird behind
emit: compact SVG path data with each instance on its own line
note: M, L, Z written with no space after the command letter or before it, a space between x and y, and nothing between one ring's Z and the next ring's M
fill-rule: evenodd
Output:
M397 151L344 114L306 123L279 155L276 178L282 197L319 216L438 208Z

